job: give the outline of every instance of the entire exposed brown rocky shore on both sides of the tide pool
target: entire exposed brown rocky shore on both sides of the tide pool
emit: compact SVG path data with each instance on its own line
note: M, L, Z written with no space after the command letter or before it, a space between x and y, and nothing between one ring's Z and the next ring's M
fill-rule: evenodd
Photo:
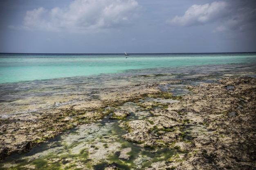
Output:
M102 89L94 94L94 99L29 114L9 114L0 119L0 158L4 161L9 155L28 152L67 129L91 124L110 115L110 119L121 121L120 126L126 129L122 137L130 143L142 148L177 151L164 161L156 161L145 168L133 165L129 169L256 169L256 79L231 77L215 83L188 84L189 94L182 96L159 89L159 86L182 81ZM145 98L152 100L144 101ZM126 120L130 113L119 108L126 102L134 102L144 110L150 110L151 116ZM117 149L119 145L115 146ZM131 160L131 152L131 148L124 148L118 152L117 158ZM93 147L88 149L87 154L93 153L96 153ZM104 166L106 170L122 169L114 161L107 163ZM79 167L90 169L81 163Z

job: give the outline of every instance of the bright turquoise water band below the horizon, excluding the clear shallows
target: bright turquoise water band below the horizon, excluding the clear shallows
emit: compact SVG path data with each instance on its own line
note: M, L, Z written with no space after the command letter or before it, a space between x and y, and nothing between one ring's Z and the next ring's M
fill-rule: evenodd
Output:
M172 69L256 63L256 53L193 54L0 54L0 83L61 77L135 73Z

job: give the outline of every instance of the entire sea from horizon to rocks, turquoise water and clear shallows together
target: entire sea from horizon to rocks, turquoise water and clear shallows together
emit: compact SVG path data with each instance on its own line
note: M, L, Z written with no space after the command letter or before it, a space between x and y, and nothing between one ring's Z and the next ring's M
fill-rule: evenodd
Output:
M212 80L255 77L256 53L0 53L0 103L81 94L134 82L207 76Z

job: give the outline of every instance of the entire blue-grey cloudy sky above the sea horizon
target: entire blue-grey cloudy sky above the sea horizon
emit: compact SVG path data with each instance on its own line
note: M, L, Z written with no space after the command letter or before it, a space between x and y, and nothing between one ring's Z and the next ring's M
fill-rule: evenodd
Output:
M256 0L1 0L0 53L256 51Z

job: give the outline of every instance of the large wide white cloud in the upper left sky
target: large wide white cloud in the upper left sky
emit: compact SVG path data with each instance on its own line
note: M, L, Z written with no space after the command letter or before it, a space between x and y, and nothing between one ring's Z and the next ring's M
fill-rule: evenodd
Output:
M138 7L139 4L135 0L74 0L66 9L55 7L46 10L40 7L27 11L23 25L15 28L72 32L98 31L129 24Z

